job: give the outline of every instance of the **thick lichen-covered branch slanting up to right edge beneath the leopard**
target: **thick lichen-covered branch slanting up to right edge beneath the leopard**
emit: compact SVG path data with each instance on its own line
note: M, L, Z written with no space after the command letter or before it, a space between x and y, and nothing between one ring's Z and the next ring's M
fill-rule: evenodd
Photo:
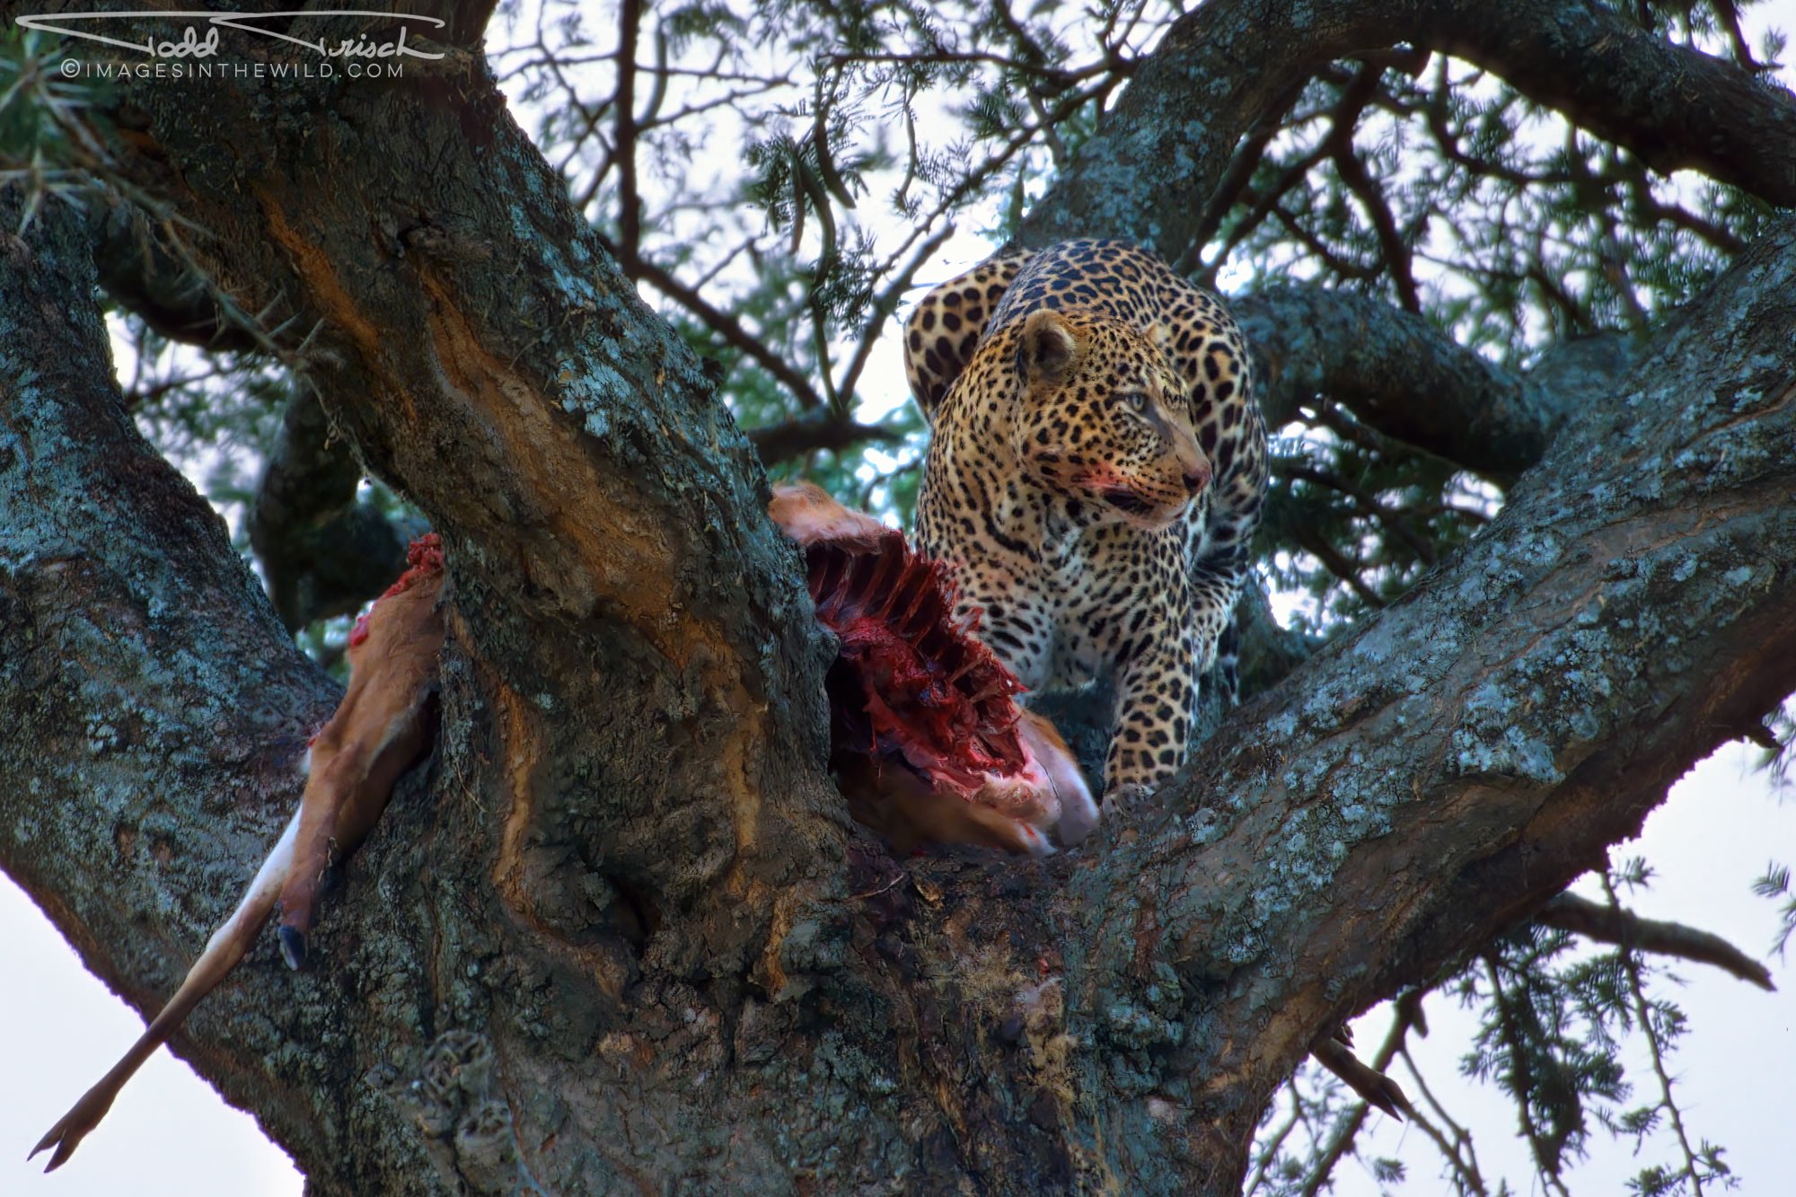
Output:
M1525 917L1796 690L1792 325L1785 221L1473 545L1110 829L1072 882L1108 929L1081 963L1171 963L1185 1024L1266 1028L1185 1044L1189 1150L1246 1141L1268 1051Z

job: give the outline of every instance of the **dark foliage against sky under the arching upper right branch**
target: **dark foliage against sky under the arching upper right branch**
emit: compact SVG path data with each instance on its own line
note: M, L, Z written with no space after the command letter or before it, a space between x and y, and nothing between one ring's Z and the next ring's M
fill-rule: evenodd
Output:
M1369 291L1527 365L1559 336L1643 329L1769 216L1735 189L1660 176L1464 63L1412 66L1340 66L1304 90L1218 221L1212 271Z

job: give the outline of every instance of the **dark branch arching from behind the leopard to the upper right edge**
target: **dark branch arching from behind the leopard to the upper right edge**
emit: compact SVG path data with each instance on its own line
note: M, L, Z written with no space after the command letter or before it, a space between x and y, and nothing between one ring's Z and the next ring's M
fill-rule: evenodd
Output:
M1656 171L1690 167L1796 205L1796 97L1602 5L1218 0L1175 22L1031 208L1022 243L1126 235L1178 259L1202 221L1191 196L1216 191L1236 142L1277 115L1293 83L1397 43L1485 66Z

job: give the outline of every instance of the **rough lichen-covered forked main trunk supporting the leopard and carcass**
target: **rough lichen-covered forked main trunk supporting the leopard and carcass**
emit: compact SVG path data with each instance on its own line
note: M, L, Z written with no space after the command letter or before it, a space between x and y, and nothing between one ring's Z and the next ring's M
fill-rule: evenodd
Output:
M318 967L264 947L178 1042L316 1192L1234 1192L1316 1033L1796 688L1783 223L1153 811L894 863L823 778L828 649L744 439L476 58L124 97L140 185L244 309L329 322L334 417L449 548L435 766ZM329 688L117 412L75 235L0 261L0 864L147 1008Z

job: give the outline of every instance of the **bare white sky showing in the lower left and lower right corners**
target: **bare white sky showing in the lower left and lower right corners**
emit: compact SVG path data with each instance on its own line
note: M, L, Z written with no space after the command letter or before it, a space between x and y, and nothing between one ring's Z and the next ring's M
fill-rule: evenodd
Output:
M1773 0L1751 11L1753 29L1796 29L1796 0ZM1792 50L1791 54L1796 54ZM1787 56L1789 58L1789 56ZM1785 79L1791 79L1785 70ZM955 239L939 277L952 264L975 261L975 243ZM930 279L934 280L934 279ZM896 340L889 350L896 354ZM884 370L869 370L869 379ZM889 372L894 379L902 374ZM1638 843L1618 845L1615 859L1645 856L1658 881L1624 902L1654 918L1672 918L1715 931L1748 953L1764 953L1776 929L1774 904L1748 884L1776 857L1796 864L1796 802L1778 803L1764 776L1746 771L1740 748L1722 749L1679 785L1647 821ZM244 879L253 863L244 861ZM158 1051L126 1086L106 1122L75 1157L52 1175L40 1175L25 1152L142 1032L142 1019L113 998L81 965L36 906L0 875L0 953L11 980L0 987L0 1193L43 1197L131 1193L133 1197L298 1195L304 1181L286 1154L271 1145L250 1114L224 1105L183 1062ZM1690 1019L1683 1050L1672 1057L1676 1095L1692 1138L1724 1143L1728 1163L1742 1177L1739 1192L1789 1192L1789 1095L1796 1075L1796 987L1789 965L1771 960L1782 992L1764 994L1715 969L1681 965L1688 981L1677 1001ZM230 983L230 981L226 981ZM1478 1159L1492 1190L1507 1177L1512 1192L1536 1193L1525 1145L1514 1136L1516 1114L1494 1089L1457 1080L1457 1060L1469 1044L1473 1019L1457 1003L1428 1001L1431 1035L1412 1051L1422 1059L1430 1086L1455 1118L1476 1136ZM1356 1024L1361 1050L1381 1041L1378 1012ZM1408 1078L1399 1071L1399 1082ZM1649 1075L1636 1077L1636 1102ZM1413 1086L1410 1087L1415 1096ZM1433 1170L1431 1147L1415 1130L1379 1114L1361 1143L1379 1154L1408 1157L1410 1181L1401 1192L1442 1193L1448 1183ZM1629 1141L1591 1138L1593 1157L1573 1170L1577 1193L1620 1193L1642 1163L1672 1163L1660 1143L1643 1161ZM1358 1197L1378 1186L1354 1165L1338 1172L1338 1193Z

